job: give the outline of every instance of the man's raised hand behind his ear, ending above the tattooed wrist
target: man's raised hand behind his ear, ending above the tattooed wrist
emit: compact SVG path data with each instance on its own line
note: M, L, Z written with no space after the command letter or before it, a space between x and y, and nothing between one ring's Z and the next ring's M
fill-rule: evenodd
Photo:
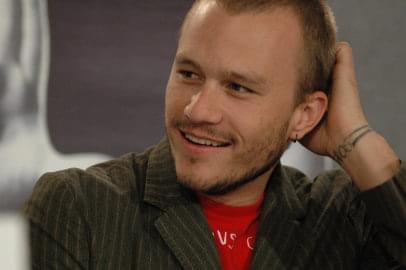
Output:
M333 157L349 134L367 124L358 95L352 49L348 43L340 42L326 115L300 142L312 152Z

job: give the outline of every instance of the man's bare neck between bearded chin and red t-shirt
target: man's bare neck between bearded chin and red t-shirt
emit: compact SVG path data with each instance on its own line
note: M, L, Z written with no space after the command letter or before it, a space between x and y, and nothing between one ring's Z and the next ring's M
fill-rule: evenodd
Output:
M265 192L268 180L273 172L274 167L263 173L254 181L251 181L240 188L223 195L206 195L201 194L213 201L229 206L246 206L255 204Z

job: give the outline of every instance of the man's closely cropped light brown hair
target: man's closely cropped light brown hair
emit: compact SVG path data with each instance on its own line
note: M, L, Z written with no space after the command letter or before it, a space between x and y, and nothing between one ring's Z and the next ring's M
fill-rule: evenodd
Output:
M337 28L334 15L324 0L195 0L193 6L202 1L215 1L233 15L261 13L278 7L292 8L299 16L304 41L303 60L298 67L297 104L314 91L329 95Z

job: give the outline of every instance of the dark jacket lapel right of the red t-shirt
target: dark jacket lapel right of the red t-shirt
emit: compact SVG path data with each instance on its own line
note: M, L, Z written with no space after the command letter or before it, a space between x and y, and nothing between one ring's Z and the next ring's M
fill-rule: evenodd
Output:
M265 196L251 269L293 269L305 210L280 164Z

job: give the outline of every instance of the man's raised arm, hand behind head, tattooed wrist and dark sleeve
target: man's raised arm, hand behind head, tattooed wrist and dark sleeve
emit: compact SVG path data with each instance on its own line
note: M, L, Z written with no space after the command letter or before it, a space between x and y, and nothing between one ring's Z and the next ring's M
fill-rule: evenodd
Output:
M331 90L324 121L301 142L342 166L362 192L383 247L406 265L406 166L368 125L348 43L338 44Z

